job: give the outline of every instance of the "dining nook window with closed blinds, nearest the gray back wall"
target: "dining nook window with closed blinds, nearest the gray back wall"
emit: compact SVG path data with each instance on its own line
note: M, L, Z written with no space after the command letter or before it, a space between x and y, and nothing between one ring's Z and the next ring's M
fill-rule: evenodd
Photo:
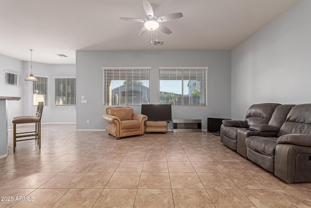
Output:
M55 77L55 105L76 105L76 78Z

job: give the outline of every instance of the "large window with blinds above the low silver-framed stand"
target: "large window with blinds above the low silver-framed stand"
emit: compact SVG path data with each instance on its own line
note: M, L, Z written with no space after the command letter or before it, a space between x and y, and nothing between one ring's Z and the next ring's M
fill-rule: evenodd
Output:
M208 67L160 67L160 103L207 105Z

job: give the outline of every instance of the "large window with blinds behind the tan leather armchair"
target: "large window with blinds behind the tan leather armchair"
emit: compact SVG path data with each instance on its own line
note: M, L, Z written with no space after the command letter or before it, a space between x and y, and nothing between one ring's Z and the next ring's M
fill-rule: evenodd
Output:
M151 67L103 67L103 106L149 103Z

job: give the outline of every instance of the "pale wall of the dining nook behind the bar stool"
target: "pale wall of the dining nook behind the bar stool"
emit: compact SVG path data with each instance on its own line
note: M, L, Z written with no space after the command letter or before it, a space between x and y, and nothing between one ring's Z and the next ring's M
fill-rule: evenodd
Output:
M12 126L13 117L17 115L34 115L36 106L33 106L32 82L24 81L30 75L30 61L21 61L15 58L0 55L0 96L18 96L19 101L8 101L8 126ZM19 86L5 84L4 71L20 73ZM75 106L55 106L54 76L75 76L75 64L43 64L33 62L35 76L48 76L48 105L44 106L42 123L76 122Z

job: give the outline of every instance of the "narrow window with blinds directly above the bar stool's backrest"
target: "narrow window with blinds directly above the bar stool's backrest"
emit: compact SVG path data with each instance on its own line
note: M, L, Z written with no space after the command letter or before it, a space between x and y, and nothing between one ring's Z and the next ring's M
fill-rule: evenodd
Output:
M38 81L33 82L33 105L38 105L38 102L44 101L44 105L48 104L48 77L35 76Z

